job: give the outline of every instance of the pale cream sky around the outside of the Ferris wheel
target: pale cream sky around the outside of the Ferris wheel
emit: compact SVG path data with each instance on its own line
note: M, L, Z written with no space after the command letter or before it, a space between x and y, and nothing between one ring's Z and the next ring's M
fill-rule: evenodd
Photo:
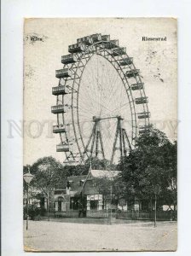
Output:
M58 84L55 70L62 67L61 55L77 38L101 33L119 39L126 47L148 96L151 123L176 139L177 127L177 20L171 18L130 19L26 19L24 28L24 165L43 156L63 159L57 153L58 135L52 134L56 116L52 87ZM43 41L31 41L32 36ZM163 42L146 42L142 37L166 37Z

